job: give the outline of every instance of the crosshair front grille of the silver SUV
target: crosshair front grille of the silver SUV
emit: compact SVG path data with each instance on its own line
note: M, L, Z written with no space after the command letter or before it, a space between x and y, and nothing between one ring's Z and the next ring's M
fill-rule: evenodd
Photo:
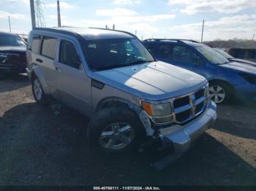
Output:
M173 119L176 123L192 120L206 108L206 86L188 95L173 99Z

